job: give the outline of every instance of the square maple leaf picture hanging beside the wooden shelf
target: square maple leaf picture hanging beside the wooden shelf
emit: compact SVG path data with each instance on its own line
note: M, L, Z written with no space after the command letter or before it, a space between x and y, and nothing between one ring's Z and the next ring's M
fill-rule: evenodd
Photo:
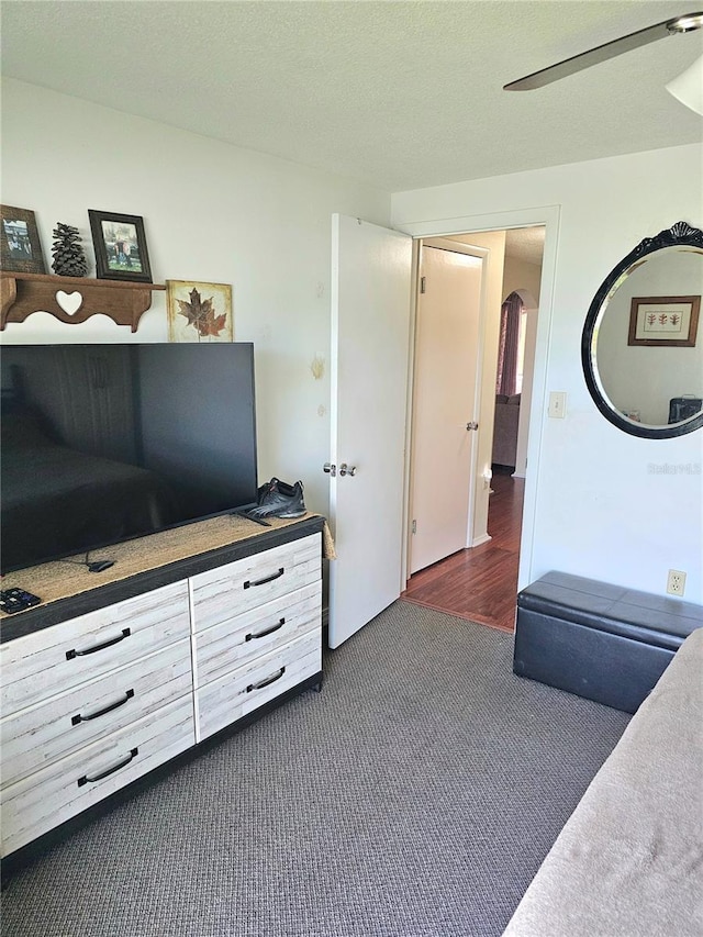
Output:
M234 342L232 287L166 280L169 342Z

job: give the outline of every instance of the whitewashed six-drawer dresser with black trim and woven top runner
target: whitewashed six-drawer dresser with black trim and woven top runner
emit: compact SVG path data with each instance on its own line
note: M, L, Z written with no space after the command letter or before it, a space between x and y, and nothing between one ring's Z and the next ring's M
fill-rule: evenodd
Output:
M110 547L100 583L59 562L12 573L44 601L0 618L3 871L321 687L326 524L271 524Z

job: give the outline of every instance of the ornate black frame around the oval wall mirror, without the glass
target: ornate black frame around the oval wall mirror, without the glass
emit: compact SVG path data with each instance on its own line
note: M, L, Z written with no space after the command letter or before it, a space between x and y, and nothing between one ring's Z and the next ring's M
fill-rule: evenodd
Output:
M645 237L634 250L624 257L616 267L614 267L607 277L599 287L598 292L593 297L593 301L589 306L583 325L583 334L581 336L581 364L583 366L583 376L588 386L589 392L593 398L593 402L603 414L603 416L622 430L624 433L629 433L632 436L643 436L647 439L671 439L676 436L683 436L685 433L693 433L703 426L703 412L691 420L682 423L673 423L670 426L646 426L640 423L635 423L628 420L623 414L618 413L613 404L607 400L599 387L594 348L593 348L593 331L603 311L603 303L607 299L611 290L617 280L627 272L627 270L647 257L649 254L655 254L657 250L662 250L665 247L698 247L703 252L703 232L698 227L692 227L685 221L678 221L669 228L660 231L656 237ZM703 336L701 338L703 341Z

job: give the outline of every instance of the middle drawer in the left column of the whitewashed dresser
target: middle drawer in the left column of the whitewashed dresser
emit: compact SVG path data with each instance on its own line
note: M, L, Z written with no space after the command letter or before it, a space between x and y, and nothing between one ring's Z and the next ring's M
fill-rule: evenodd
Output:
M192 691L188 638L0 720L2 787Z

